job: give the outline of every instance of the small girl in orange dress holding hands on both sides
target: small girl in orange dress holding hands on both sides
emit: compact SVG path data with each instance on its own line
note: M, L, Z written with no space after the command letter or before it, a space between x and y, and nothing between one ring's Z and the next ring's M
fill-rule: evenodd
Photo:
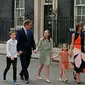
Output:
M60 53L56 56L60 56L60 78L59 80L62 81L62 77L65 79L65 83L67 83L68 79L66 77L66 70L72 69L73 65L71 62L69 62L69 56L71 57L70 52L68 51L68 48L66 44L63 44L63 49L60 51Z

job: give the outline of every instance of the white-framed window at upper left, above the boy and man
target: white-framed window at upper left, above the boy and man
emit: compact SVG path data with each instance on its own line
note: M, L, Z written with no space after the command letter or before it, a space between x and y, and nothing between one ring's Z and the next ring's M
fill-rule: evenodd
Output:
M25 0L15 0L16 24L22 25L25 18Z

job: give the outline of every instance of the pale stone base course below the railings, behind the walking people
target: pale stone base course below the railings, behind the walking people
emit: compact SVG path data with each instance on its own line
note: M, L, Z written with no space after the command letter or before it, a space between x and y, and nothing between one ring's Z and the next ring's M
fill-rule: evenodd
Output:
M56 54L59 53L61 48L53 48L53 56L56 56ZM6 44L0 44L0 54L6 55ZM34 52L32 53L32 58L38 59L39 58L39 53L35 54ZM73 62L73 57L69 58L71 62ZM55 58L54 61L59 61L59 57Z

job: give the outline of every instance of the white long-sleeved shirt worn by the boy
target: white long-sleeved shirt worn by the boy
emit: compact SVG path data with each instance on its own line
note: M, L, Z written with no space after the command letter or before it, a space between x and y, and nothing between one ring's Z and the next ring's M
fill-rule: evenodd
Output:
M17 40L9 39L7 41L7 57L17 58Z

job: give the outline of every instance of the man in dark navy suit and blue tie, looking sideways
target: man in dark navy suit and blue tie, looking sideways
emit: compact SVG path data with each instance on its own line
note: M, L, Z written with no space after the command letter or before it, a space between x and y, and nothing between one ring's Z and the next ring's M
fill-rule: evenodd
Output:
M32 32L32 21L31 20L25 20L23 23L22 29L17 31L17 51L20 55L20 61L22 70L20 72L21 79L25 78L25 83L29 84L29 73L28 73L28 67L30 64L32 49L35 51L35 41L34 36Z

